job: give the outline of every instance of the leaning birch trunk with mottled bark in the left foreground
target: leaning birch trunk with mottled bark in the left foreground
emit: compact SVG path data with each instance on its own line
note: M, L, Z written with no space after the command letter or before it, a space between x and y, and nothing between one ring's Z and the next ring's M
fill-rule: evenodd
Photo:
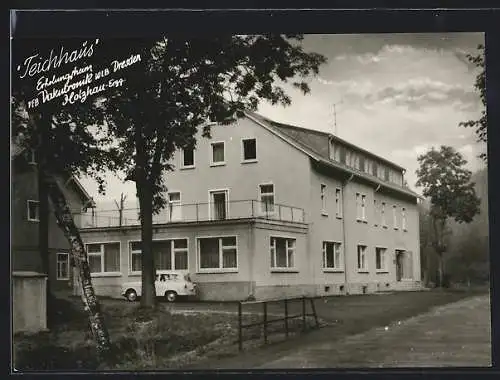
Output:
M68 239L71 247L71 255L78 269L83 306L88 314L90 328L97 346L97 353L102 362L109 358L111 343L104 323L104 317L92 286L87 252L59 184L52 175L47 175L46 181L48 195L54 207L57 224Z

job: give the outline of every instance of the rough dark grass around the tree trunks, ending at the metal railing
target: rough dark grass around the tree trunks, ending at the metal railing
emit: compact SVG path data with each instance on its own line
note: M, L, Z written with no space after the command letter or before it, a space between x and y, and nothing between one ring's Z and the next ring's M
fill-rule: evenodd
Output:
M148 370L179 368L194 361L227 357L238 351L235 314L172 313L170 305L144 311L137 304L101 300L105 321L112 338L111 364L98 363L86 315L78 299L57 300L58 310L50 332L14 337L14 363L20 371L29 370ZM235 304L232 304L233 309ZM254 323L261 316L244 315L243 323ZM307 320L308 325L312 320ZM301 331L300 323L290 323L291 333ZM282 334L282 326L271 324L269 340ZM262 330L244 330L246 347L261 344ZM256 342L258 340L258 342Z

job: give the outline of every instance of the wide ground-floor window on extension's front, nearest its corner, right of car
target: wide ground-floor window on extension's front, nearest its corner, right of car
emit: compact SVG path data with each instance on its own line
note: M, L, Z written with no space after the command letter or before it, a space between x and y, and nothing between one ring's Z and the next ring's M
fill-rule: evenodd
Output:
M236 236L198 238L199 270L234 270L238 268Z

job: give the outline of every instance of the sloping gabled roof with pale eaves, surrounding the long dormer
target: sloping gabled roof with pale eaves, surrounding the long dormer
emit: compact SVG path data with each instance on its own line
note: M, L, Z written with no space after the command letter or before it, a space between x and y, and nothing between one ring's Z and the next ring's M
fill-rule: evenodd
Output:
M364 149L361 149L353 144L350 144L344 140L339 139L336 136L333 136L329 133L326 132L321 132L321 131L315 131L315 130L310 130L306 128L301 128L301 127L296 127L293 125L288 125L288 124L282 124L282 123L277 123L275 121L272 121L262 115L259 115L255 112L245 112L247 118L253 120L254 122L257 122L261 126L265 127L268 129L270 132L274 133L281 139L287 141L289 144L293 145L295 148L301 150L304 154L307 154L311 159L314 161L321 163L323 165L332 167L334 169L340 169L344 172L348 172L351 174L354 174L355 176L361 177L367 181L370 181L376 185L380 185L392 190L395 190L397 192L403 193L405 195L409 195L412 197L419 197L419 195L412 190L403 187L403 186L398 186L396 184L383 181L378 177L372 176L368 173L362 172L360 170L351 168L345 164L342 164L340 162L334 161L330 159L329 155L329 141L330 139L334 139L337 141L340 141L341 143L348 145L350 147L353 147L354 149L364 152L367 155L376 158L380 161L383 161L389 165L391 165L394 168L400 169L400 170L405 170L403 167L398 166L382 157L378 157L374 155L373 153L370 153Z

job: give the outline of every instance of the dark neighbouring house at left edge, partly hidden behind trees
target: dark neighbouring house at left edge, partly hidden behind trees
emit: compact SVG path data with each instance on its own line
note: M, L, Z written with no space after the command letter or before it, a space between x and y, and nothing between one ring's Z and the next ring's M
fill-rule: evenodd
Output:
M39 198L37 164L31 152L12 147L11 177L11 271L44 273L39 248ZM92 205L92 199L78 180L61 175L57 178L75 215ZM49 203L49 283L52 290L73 286L69 243L57 225ZM80 221L76 221L80 224ZM45 273L46 274L46 273Z

